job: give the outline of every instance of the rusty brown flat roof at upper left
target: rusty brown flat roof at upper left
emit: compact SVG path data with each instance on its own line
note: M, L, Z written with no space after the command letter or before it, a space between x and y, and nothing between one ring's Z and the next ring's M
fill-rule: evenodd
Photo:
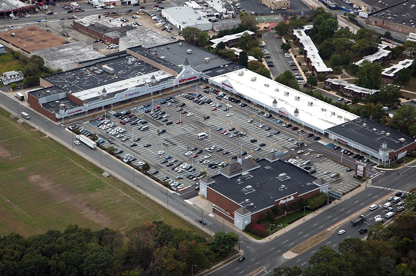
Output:
M11 33L15 33L15 36L11 36ZM21 48L29 54L33 51L69 43L38 26L27 26L2 32L0 33L0 39Z

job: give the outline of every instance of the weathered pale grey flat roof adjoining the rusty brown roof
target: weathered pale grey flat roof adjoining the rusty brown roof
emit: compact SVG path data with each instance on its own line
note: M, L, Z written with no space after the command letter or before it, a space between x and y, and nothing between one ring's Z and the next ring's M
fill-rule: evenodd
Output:
M41 56L46 62L52 62L64 71L77 68L79 62L104 57L83 41L45 48L32 54Z

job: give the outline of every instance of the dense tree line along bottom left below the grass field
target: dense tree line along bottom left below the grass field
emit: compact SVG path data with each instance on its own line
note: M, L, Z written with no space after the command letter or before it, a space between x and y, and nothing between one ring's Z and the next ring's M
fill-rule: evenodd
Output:
M238 237L218 232L212 241L155 221L125 234L71 225L63 232L0 239L4 276L183 276L234 253Z

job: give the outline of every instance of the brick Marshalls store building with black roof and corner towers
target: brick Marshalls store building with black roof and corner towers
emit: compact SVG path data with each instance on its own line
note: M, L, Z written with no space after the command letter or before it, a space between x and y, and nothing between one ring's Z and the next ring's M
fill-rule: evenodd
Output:
M239 156L219 173L200 181L200 195L213 204L213 213L240 230L275 207L290 211L300 198L328 192L324 180L273 154L258 162Z

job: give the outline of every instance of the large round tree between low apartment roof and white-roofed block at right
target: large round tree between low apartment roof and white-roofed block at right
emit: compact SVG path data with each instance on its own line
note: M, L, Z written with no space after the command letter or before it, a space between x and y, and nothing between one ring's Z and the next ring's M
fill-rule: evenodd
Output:
M383 67L379 62L364 61L356 75L355 84L368 89L380 89Z

